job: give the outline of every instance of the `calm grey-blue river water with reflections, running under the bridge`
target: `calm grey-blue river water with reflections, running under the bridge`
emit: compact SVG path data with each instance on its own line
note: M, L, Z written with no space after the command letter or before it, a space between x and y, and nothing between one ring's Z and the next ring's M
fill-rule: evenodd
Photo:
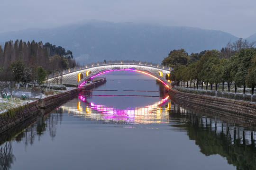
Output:
M256 169L253 126L185 109L149 76L104 77L0 140L0 170Z

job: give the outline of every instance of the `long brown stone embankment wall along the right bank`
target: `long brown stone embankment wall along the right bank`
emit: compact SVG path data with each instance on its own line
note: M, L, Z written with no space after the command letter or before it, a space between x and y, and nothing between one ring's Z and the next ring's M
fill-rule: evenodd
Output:
M219 97L210 97L198 94L183 93L169 89L169 96L174 102L193 109L214 109L219 116L236 116L256 119L256 103L241 102Z

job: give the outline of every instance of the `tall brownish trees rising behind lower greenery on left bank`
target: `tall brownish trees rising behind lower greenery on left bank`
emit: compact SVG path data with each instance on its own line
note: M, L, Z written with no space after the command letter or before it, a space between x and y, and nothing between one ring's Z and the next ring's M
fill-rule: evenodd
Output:
M9 67L9 64L20 60L26 67L42 66L48 73L77 66L72 51L65 51L61 46L46 42L22 42L12 40L0 46L0 66Z

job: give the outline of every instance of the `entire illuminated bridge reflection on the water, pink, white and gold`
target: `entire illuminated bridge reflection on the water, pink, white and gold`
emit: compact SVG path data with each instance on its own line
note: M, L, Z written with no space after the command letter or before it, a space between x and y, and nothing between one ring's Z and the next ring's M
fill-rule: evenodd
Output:
M116 123L168 123L168 110L171 109L171 102L168 101L169 96L158 102L152 103L144 107L126 108L124 110L100 105L94 102L87 102L86 96L79 96L76 102L77 108L61 106L62 109L68 110L70 114L85 118L88 120L97 120ZM74 101L72 101L74 102ZM70 103L74 105L75 103Z

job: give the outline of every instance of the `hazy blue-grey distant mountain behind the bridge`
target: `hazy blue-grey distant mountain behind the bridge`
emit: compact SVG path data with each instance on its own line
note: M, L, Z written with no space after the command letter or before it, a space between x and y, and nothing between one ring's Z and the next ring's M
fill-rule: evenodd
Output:
M220 50L238 37L222 31L192 27L93 21L53 29L27 29L0 34L0 42L50 42L73 51L80 64L105 60L141 60L161 63L174 49L191 52Z

